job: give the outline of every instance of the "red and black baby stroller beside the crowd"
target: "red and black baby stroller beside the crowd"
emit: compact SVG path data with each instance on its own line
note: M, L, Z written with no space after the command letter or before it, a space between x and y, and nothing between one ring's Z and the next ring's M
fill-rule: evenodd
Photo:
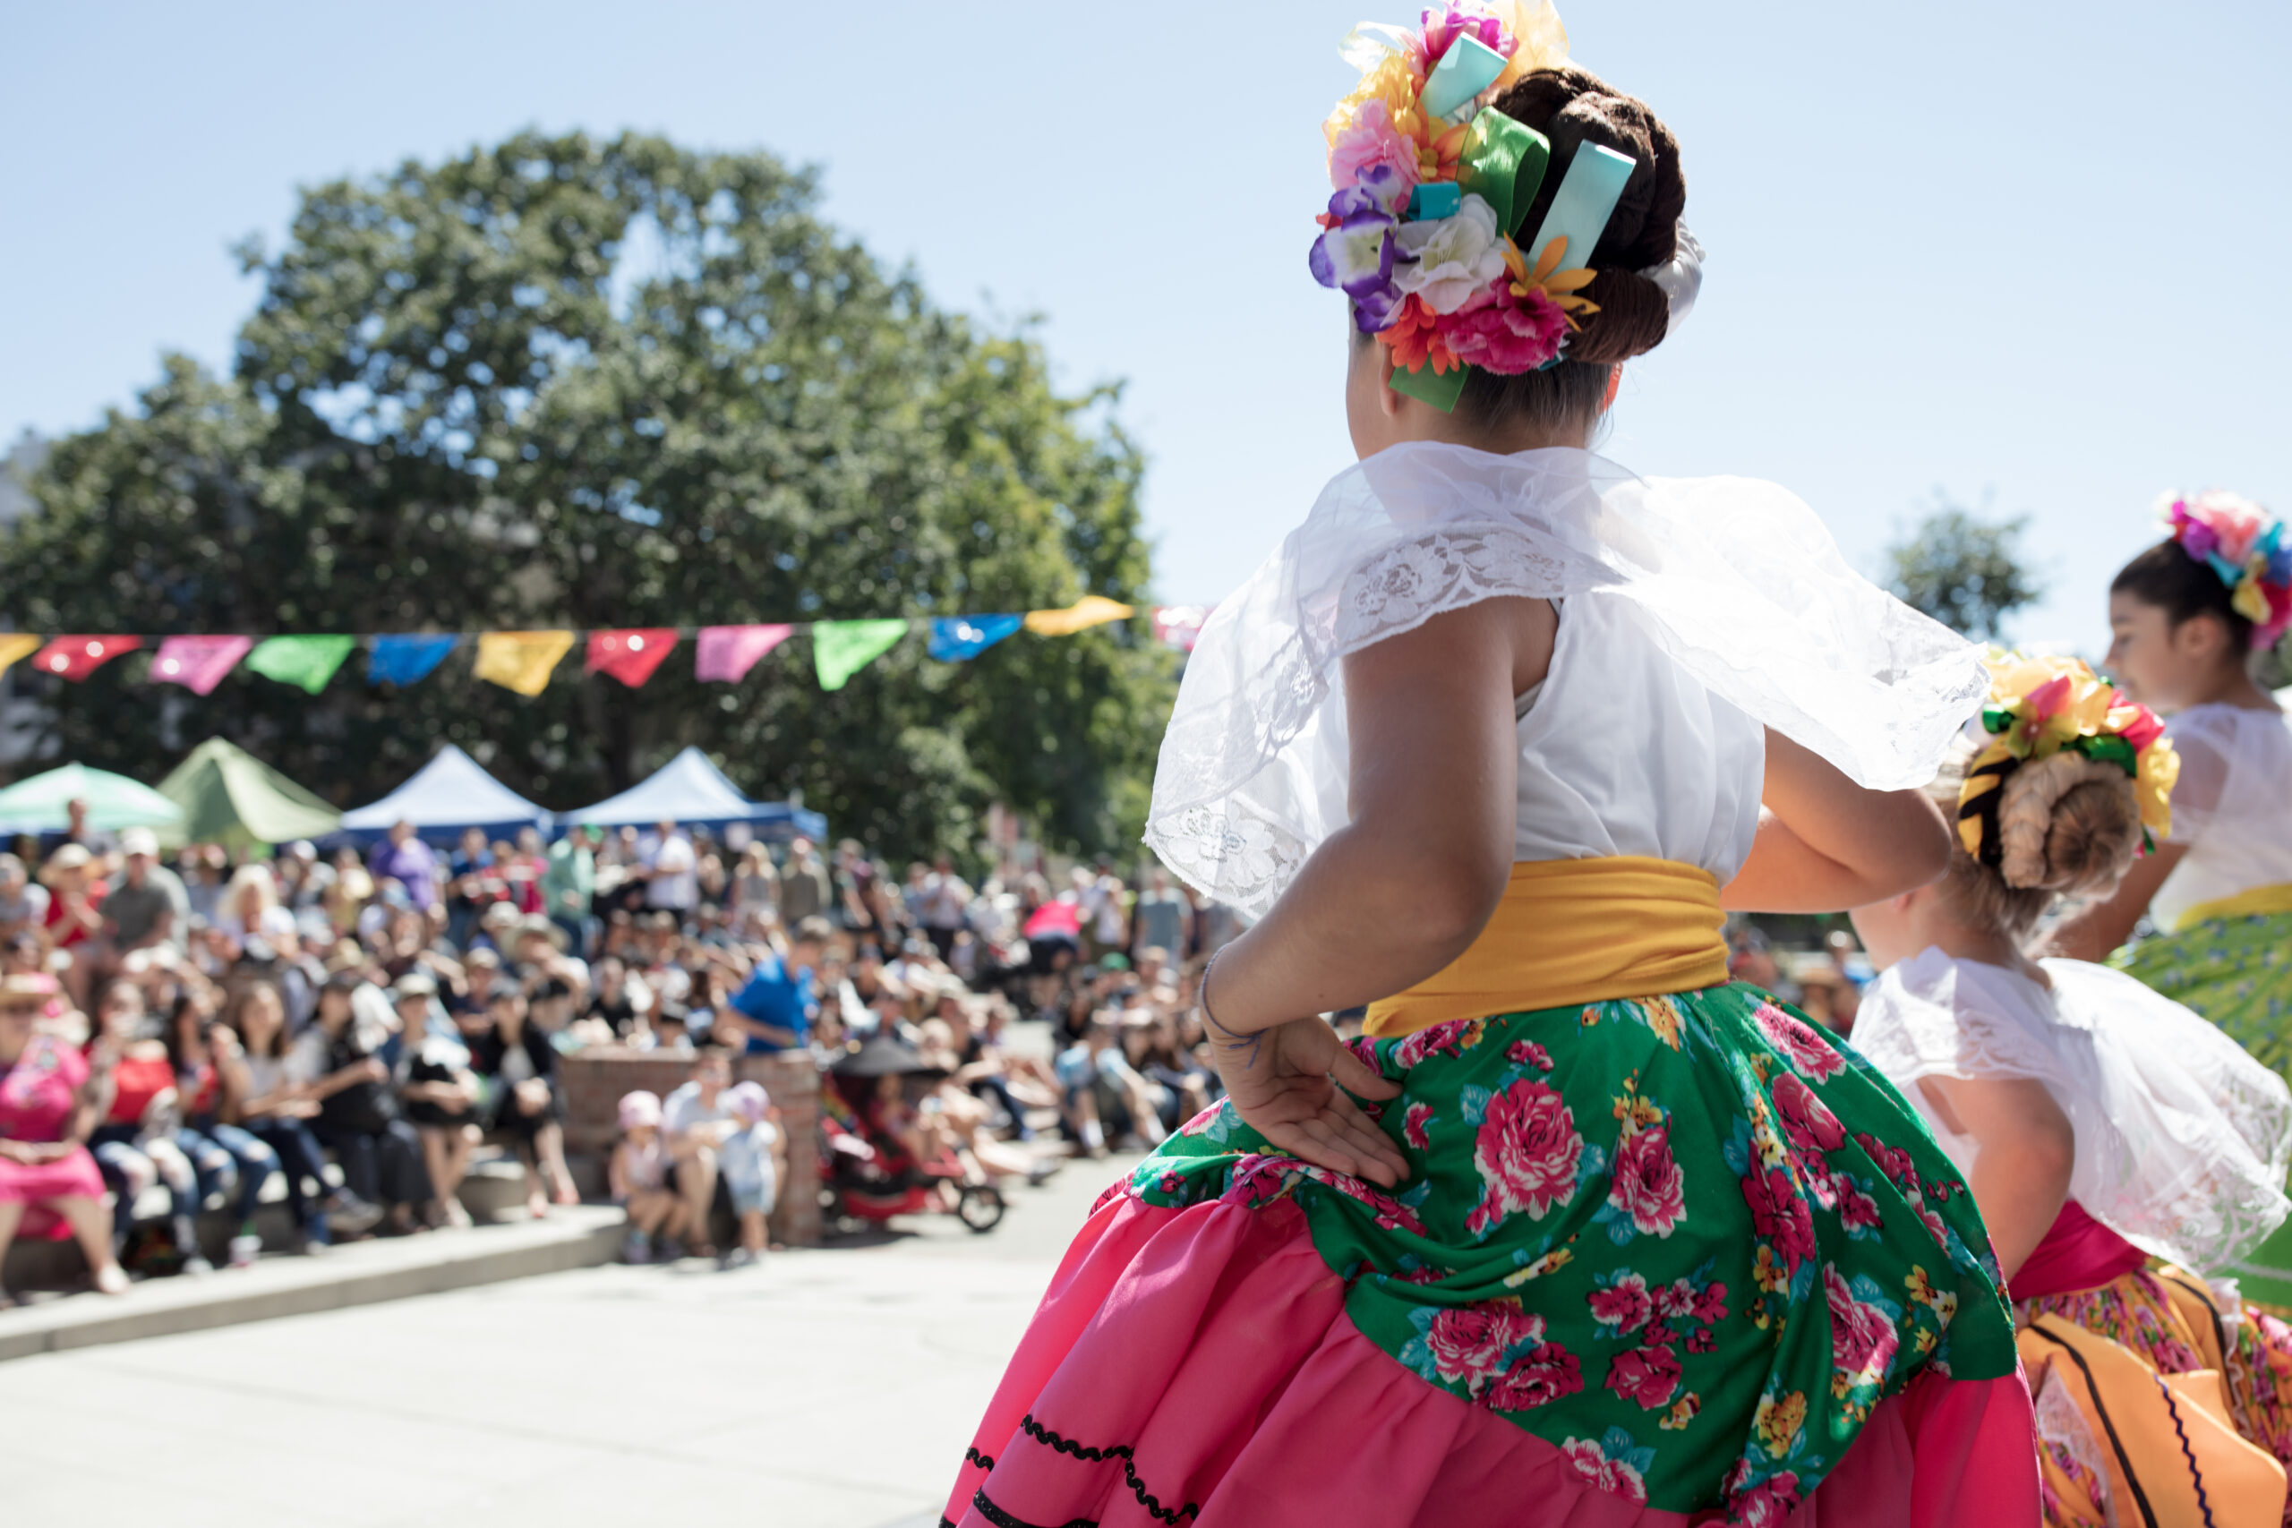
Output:
M917 1159L889 1127L887 1104L915 1077L940 1070L880 1035L830 1070L821 1090L821 1212L839 1230L882 1226L894 1214L953 1214L974 1232L995 1230L1004 1216L995 1184L953 1152Z

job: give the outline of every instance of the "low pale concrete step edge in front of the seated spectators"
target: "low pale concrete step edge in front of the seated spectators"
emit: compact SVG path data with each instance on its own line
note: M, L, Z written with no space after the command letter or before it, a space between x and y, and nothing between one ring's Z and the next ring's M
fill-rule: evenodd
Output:
M614 1258L621 1230L619 1210L580 1205L545 1221L353 1242L204 1278L149 1278L117 1299L53 1294L0 1308L0 1361L596 1267Z

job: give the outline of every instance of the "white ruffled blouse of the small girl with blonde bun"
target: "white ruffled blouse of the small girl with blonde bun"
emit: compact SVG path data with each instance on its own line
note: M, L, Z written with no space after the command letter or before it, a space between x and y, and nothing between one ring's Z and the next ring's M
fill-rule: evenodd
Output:
M2019 971L1928 948L1889 967L1854 1015L1854 1049L1973 1175L1925 1077L2044 1084L2077 1132L2070 1196L2136 1246L2216 1271L2292 1212L2292 1090L2235 1040L2132 976L2081 960Z

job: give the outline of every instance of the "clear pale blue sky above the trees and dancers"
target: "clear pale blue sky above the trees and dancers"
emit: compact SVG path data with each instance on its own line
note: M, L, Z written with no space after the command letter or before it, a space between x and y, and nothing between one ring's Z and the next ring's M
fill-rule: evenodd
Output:
M1318 121L1371 0L48 5L0 23L0 442L160 348L229 360L293 188L520 126L768 147L947 305L1128 378L1167 600L1215 600L1348 460L1304 270ZM1772 476L1847 552L1944 486L2028 511L2019 635L2095 646L2159 488L2292 509L2292 7L1568 0L1680 133L1712 252L1607 451ZM759 612L772 616L786 612Z

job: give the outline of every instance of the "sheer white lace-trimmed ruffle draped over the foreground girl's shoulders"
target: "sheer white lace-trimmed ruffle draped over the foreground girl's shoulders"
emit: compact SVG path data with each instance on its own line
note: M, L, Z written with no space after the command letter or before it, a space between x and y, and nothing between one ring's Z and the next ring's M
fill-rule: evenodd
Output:
M1930 781L1989 685L1774 483L1412 442L1341 472L1203 625L1146 843L1261 916L1348 822L1339 662L1478 600L1579 593L1630 600L1705 690L1879 790Z

